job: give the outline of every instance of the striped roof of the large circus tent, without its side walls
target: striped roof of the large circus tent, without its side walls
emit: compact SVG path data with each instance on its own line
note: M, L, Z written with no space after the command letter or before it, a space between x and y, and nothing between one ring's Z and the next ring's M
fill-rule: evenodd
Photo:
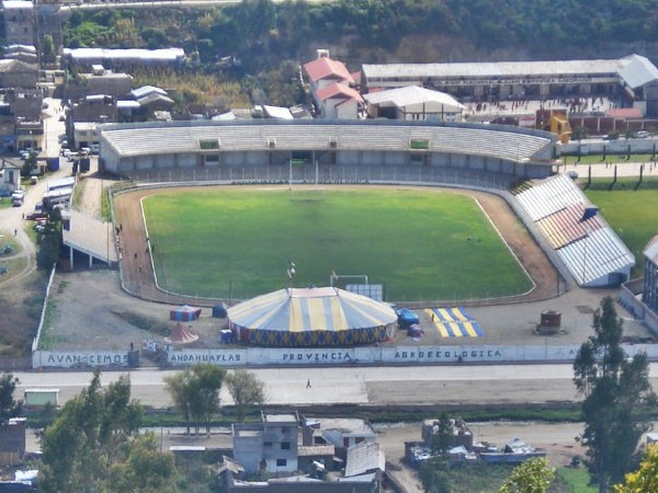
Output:
M388 305L333 287L288 288L258 296L228 309L232 324L261 331L329 331L390 325Z

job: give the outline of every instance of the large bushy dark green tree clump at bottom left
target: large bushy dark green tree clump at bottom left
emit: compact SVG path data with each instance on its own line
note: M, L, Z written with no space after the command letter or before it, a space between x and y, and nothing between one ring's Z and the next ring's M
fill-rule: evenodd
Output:
M159 488L169 484L169 459L158 456L152 440L137 435L143 411L131 399L129 378L121 376L102 388L100 377L97 368L89 387L68 401L44 431L39 491L171 491ZM139 480L124 488L117 482L117 471Z

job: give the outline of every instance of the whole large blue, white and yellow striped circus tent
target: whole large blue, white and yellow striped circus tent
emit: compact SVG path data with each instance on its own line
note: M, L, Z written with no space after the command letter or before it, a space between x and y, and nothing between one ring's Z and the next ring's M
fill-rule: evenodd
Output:
M228 309L229 328L262 346L345 346L393 337L395 311L385 303L334 287L287 288Z

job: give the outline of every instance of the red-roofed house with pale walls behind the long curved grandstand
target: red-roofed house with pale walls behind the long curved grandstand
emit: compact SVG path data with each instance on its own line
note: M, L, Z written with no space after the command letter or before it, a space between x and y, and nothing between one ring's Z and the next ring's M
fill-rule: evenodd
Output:
M321 118L355 119L363 106L363 98L353 89L354 78L342 64L318 49L318 57L304 65L309 80L310 95Z

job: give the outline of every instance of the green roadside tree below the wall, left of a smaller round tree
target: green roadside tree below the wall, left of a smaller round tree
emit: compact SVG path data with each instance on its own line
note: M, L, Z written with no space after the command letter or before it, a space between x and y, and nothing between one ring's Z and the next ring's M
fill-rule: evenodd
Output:
M177 408L183 413L183 419L190 433L190 421L203 422L206 433L211 433L213 416L219 410L219 390L226 376L226 370L218 366L202 363L164 379L169 395Z

